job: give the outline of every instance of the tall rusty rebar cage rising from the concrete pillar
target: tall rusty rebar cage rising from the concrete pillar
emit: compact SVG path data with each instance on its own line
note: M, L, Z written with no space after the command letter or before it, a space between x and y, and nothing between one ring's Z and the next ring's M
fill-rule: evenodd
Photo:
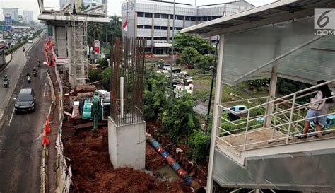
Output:
M146 41L112 38L110 116L117 125L143 122Z

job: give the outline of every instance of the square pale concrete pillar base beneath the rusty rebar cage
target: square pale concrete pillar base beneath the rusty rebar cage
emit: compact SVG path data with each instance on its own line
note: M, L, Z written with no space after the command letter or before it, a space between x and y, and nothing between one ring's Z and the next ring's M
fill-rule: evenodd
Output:
M114 168L146 165L146 122L117 125L108 117L108 151Z

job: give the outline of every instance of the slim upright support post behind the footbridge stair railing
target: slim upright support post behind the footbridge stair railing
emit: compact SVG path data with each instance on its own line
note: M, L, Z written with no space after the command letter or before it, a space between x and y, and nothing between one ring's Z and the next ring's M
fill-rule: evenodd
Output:
M276 96L276 87L277 87L277 66L272 67L271 79L270 79L270 88L269 88L269 101L274 100ZM266 115L270 115L274 112L274 103L269 103L266 105ZM271 127L271 116L265 117L264 127Z

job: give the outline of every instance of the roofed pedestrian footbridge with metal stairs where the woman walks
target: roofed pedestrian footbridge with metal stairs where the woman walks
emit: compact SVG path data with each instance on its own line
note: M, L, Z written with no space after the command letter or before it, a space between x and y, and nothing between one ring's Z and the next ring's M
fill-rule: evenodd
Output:
M307 136L301 134L317 81L335 86L334 30L318 22L329 8L334 1L278 1L181 30L220 36L207 192L214 180L222 187L335 192L333 121L298 139ZM278 95L278 77L311 86ZM222 100L223 84L261 78L270 78L269 95L257 99L262 104ZM231 121L229 107L241 103L248 109ZM323 116L334 114L333 104Z

